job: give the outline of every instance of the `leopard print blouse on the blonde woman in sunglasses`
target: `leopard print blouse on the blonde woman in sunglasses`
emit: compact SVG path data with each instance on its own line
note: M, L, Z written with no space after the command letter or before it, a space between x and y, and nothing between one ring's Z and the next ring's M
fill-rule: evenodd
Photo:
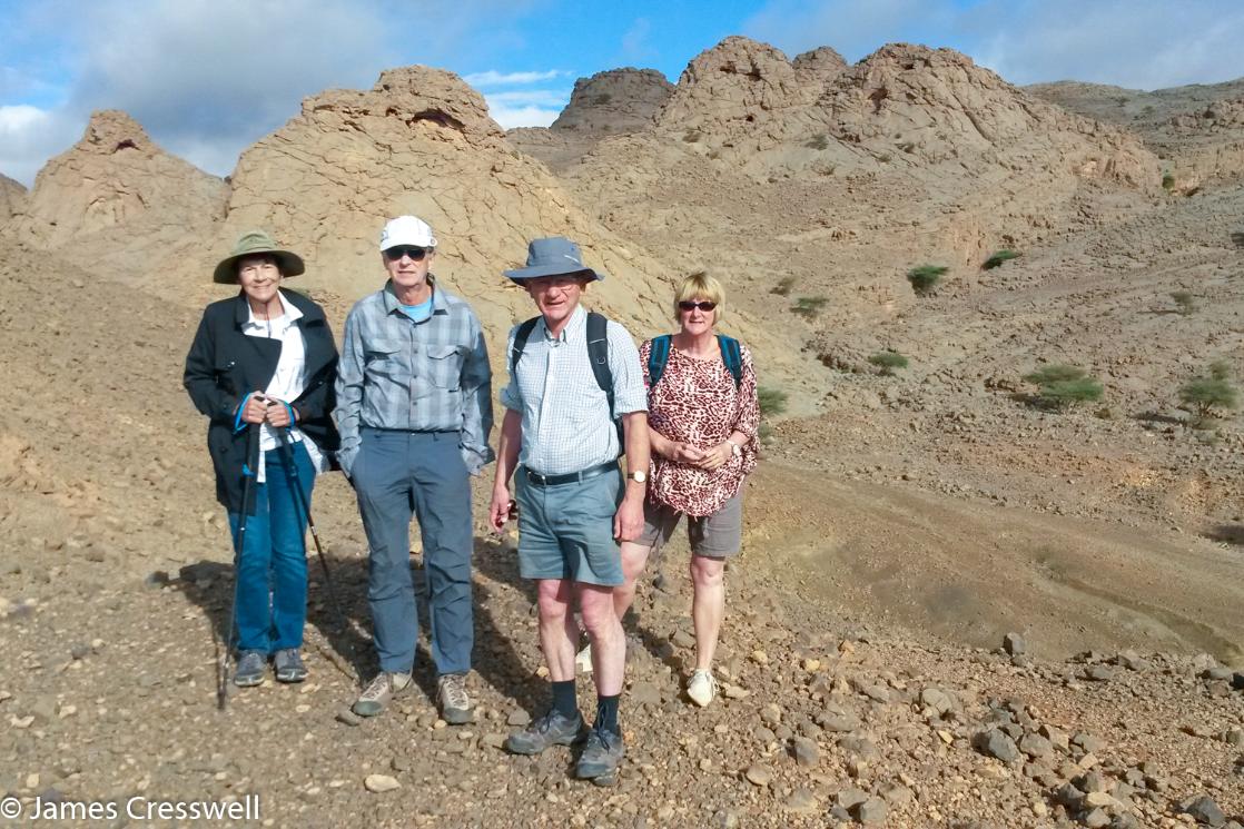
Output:
M652 340L639 346L643 382L648 387L648 426L671 441L702 449L719 446L734 431L748 436L743 452L731 454L712 472L653 453L649 499L688 515L712 515L739 492L743 478L755 468L760 426L756 373L751 352L746 346L741 351L743 382L738 388L720 356L695 360L672 346L661 381L652 388L648 377Z

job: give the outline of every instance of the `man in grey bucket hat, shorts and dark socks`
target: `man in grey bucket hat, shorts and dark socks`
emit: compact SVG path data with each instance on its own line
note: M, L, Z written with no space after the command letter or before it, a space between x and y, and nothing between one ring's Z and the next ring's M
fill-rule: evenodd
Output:
M643 528L648 469L647 393L639 352L626 329L585 311L580 299L605 275L583 264L578 245L536 239L525 268L505 275L527 290L540 316L510 331L510 382L501 426L490 520L519 510L519 566L536 580L540 645L552 706L506 747L539 754L583 741L576 773L607 785L622 762L618 698L626 636L613 609L623 584L620 541ZM620 437L615 419L621 418ZM623 479L618 456L632 472ZM575 695L577 601L592 641L596 722L588 729Z

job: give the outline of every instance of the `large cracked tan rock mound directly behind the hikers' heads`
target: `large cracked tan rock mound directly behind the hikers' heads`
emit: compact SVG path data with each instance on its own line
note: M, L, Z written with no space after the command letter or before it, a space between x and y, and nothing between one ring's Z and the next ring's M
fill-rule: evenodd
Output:
M267 228L309 263L302 283L347 301L374 290L388 217L428 220L440 245L433 271L475 305L495 336L532 312L501 276L531 237L566 235L608 274L592 302L638 331L658 327L663 266L590 219L549 171L514 149L484 98L457 75L409 66L367 91L328 91L238 162L223 232ZM301 279L301 278L300 278Z

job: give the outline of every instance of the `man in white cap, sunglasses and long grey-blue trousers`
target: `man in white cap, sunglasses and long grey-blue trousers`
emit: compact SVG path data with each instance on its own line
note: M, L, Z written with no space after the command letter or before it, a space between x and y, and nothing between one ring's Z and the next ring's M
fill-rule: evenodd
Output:
M470 722L465 677L474 617L469 475L494 458L491 371L474 311L430 274L437 239L413 215L384 225L384 286L346 317L335 416L341 468L358 498L371 548L367 597L379 673L355 702L378 714L412 686L418 615L411 517L418 518L432 619L437 701Z

